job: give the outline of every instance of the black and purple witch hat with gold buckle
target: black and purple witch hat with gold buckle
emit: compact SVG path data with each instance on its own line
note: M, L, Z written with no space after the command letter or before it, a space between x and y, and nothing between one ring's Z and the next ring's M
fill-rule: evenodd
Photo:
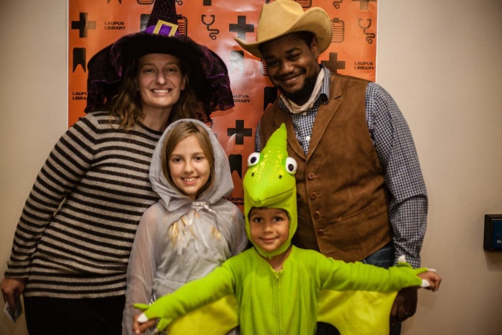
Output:
M144 32L123 36L97 52L87 65L85 112L108 109L117 93L122 70L133 59L150 53L168 53L191 67L189 82L206 116L234 106L230 79L223 60L209 48L177 31L175 0L156 0Z

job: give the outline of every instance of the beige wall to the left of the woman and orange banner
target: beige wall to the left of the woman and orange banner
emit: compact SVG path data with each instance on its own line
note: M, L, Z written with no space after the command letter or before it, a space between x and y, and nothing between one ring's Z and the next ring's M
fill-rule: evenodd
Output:
M23 204L66 130L66 1L0 0L0 277ZM2 309L4 304L1 305ZM0 334L26 334L0 315Z

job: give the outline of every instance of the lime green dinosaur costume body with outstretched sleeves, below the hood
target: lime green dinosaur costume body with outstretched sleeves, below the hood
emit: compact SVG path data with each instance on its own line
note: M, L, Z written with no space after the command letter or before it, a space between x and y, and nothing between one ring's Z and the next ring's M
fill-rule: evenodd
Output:
M416 274L423 271L405 264L387 270L344 263L296 247L283 270L275 271L255 249L249 249L206 277L143 307L148 307L149 319L160 318L160 330L179 316L222 298L231 301L234 295L239 306L236 319L227 315L226 323L208 322L205 333L224 334L240 323L243 335L313 334L317 320L335 325L342 334L378 333L375 329L388 333L397 291L420 286L422 280Z

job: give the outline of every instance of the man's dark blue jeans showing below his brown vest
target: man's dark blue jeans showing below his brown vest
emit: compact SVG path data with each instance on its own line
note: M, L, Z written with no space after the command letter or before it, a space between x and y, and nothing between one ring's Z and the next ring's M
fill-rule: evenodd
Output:
M391 242L382 247L382 249L377 250L373 254L369 255L361 262L388 269L394 265L395 252L396 250L394 249L394 245ZM394 325L391 325L389 333L390 335L401 334L401 322L396 322ZM329 323L317 322L316 335L340 335L340 332Z

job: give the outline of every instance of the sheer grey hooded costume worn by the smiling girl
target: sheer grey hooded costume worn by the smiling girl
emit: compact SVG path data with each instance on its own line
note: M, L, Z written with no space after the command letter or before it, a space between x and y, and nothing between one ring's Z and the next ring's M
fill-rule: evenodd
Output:
M208 132L214 152L215 178L208 181L211 185L196 201L162 173L165 139L173 127L183 122L200 124ZM233 190L226 153L202 122L184 119L166 129L152 157L150 181L160 200L143 214L133 244L122 320L125 334L133 333L133 317L140 312L133 303L149 303L205 276L241 252L247 243L244 216L226 199Z

